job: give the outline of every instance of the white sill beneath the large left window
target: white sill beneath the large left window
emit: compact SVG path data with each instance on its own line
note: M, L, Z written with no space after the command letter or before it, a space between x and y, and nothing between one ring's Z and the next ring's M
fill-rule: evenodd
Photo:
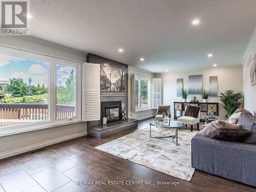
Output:
M74 121L69 121L69 122L51 123L51 124L37 125L37 126L31 126L31 127L19 128L19 129L12 129L12 130L6 130L6 131L1 131L1 128L0 128L0 137L7 137L7 136L11 136L11 135L28 133L28 132L32 132L32 131L46 130L46 129L51 129L53 127L58 127L58 126L68 125L68 124L74 124L74 123L79 123L79 122L82 122L82 121L81 120L74 120ZM5 129L6 128L7 127L5 127Z

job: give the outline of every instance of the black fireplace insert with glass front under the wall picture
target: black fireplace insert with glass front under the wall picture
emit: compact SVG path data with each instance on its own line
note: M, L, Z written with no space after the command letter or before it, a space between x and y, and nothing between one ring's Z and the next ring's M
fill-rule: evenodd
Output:
M121 120L122 115L121 101L101 102L101 117L106 117L107 122Z

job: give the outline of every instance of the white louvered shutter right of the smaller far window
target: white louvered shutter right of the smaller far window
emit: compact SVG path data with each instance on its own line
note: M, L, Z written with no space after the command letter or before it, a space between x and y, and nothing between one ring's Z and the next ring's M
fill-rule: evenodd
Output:
M157 106L162 104L162 79L153 79L153 109L157 109Z

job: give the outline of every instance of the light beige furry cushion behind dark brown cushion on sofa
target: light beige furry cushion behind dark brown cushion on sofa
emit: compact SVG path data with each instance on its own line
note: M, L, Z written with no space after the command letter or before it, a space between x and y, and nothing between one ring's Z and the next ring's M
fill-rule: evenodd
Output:
M207 124L198 134L208 137L211 132L214 132L215 130L221 128L238 130L241 129L241 124L232 124L219 119L217 121L212 121L209 124Z

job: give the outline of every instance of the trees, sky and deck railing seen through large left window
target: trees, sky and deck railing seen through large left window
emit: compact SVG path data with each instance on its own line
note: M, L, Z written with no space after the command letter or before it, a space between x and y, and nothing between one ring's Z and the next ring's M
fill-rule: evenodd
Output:
M55 65L55 63L51 63ZM49 120L50 62L0 55L0 126ZM75 116L76 68L56 65L58 118Z

